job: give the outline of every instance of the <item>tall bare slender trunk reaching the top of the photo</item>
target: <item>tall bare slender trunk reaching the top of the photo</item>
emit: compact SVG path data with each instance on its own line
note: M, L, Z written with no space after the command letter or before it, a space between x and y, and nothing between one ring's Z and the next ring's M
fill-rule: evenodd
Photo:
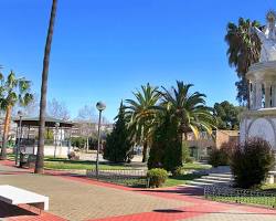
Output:
M46 115L46 94L47 94L47 73L50 63L51 44L54 32L54 21L57 0L53 0L51 18L47 29L47 38L44 51L42 84L41 84L41 101L40 101L40 127L39 127L39 146L35 161L35 173L43 173L44 167L44 134L45 134L45 115Z

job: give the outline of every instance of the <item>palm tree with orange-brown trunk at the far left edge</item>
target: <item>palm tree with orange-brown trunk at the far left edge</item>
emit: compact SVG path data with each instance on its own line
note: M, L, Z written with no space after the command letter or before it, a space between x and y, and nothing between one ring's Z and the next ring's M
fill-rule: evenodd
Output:
M1 109L6 110L1 159L7 159L7 141L10 131L12 107L17 104L26 106L33 99L33 95L30 93L31 82L24 77L17 78L12 71L6 82L3 75L0 75L0 80L2 82L0 87L0 106Z

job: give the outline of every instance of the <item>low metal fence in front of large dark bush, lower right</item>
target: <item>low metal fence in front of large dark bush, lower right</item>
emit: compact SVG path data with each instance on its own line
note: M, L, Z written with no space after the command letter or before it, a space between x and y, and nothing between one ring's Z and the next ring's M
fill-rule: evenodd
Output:
M204 197L210 200L276 208L276 192L206 186Z

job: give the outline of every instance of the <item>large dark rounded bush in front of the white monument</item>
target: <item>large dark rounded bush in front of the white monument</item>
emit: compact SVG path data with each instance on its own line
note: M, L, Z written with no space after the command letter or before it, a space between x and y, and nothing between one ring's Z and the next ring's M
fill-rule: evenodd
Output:
M236 187L252 188L262 185L274 164L274 154L267 141L254 138L238 145L231 162Z

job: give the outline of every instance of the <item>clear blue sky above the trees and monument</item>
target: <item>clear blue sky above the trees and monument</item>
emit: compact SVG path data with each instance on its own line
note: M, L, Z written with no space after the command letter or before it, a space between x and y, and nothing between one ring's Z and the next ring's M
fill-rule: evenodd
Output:
M50 0L0 0L0 64L40 92ZM66 103L74 118L104 101L112 120L119 102L141 84L193 83L208 104L236 103L224 34L238 17L265 21L273 1L59 0L49 99Z

